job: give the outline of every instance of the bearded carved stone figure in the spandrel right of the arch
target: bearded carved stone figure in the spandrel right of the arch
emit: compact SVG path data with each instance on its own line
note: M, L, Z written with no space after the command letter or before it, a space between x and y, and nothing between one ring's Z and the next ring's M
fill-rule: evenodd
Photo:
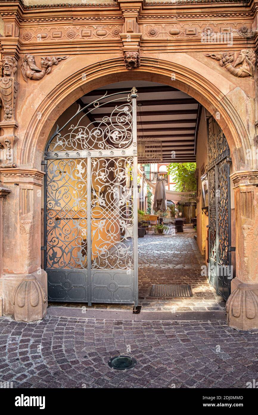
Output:
M219 61L220 66L229 71L234 76L246 78L254 75L256 54L252 49L242 49L234 62L234 52L224 52L222 54L205 54L212 59ZM233 63L234 62L234 63Z

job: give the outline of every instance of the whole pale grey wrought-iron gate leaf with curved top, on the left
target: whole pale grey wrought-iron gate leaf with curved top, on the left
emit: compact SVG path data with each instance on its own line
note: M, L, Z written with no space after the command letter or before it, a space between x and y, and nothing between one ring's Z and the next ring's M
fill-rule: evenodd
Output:
M49 301L137 305L136 98L135 88L106 93L79 107L48 141L42 163ZM91 122L105 105L110 114Z

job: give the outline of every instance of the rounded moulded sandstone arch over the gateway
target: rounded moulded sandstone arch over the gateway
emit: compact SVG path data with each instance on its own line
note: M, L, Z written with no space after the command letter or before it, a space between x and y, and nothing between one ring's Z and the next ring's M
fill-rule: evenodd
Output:
M195 59L191 59L196 62ZM69 63L68 61L69 59L66 64ZM208 67L203 66L204 75L205 68ZM210 70L211 72L218 78L218 73L213 70ZM175 62L154 58L142 58L140 68L134 71L126 70L122 59L111 59L101 62L101 64L94 63L87 68L81 68L63 79L62 73L66 74L65 65L60 71L61 81L39 103L24 132L21 148L17 150L21 166L40 169L42 152L51 128L58 117L82 95L109 83L132 81L133 85L133 81L142 80L171 85L198 100L211 114L215 115L219 111L220 119L217 122L227 137L233 161L233 171L256 167L252 160L246 160L246 149L252 147L248 137L250 132L246 130L241 120L239 109L236 109L232 104L232 94L234 94L234 90L240 88L230 81L226 80L231 86L229 93L225 94L215 86L212 76L210 76L212 79L206 79L193 67L189 68ZM171 74L175 76L175 80L171 79ZM219 77L225 84L223 74L219 74ZM228 98L227 95L230 95L231 98Z

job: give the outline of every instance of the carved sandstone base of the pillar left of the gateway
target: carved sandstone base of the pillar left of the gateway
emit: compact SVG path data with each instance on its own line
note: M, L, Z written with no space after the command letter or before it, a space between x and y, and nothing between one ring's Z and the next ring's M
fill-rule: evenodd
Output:
M41 320L47 310L47 274L5 274L2 283L3 314L17 321Z

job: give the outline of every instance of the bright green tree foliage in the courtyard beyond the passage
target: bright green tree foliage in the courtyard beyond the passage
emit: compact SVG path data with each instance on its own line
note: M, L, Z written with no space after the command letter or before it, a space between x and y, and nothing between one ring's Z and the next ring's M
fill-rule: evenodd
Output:
M196 163L170 163L167 167L176 182L176 190L179 192L195 192L196 179L194 177Z

